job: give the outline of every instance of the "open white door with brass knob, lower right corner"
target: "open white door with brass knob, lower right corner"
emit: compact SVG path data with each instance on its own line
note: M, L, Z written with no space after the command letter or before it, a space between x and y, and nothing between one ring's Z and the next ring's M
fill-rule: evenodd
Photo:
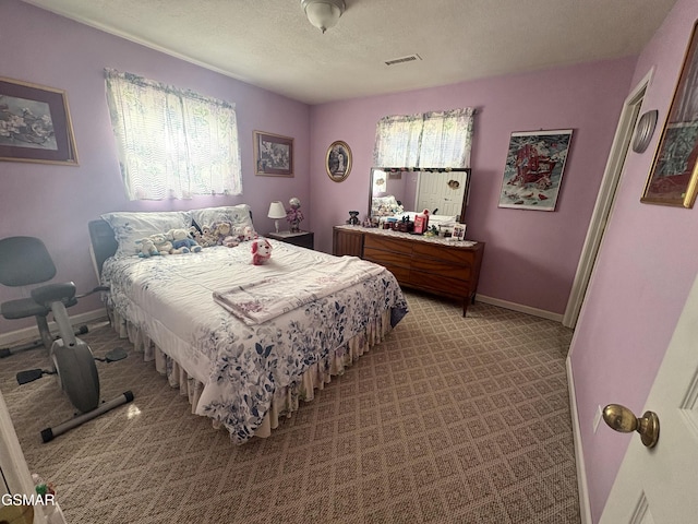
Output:
M698 278L654 379L646 409L659 441L633 436L600 524L698 522ZM635 414L641 416L641 414Z

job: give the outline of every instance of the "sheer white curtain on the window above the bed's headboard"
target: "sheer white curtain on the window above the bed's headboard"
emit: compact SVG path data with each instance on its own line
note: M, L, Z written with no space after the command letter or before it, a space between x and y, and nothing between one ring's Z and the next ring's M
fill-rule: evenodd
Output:
M130 200L242 194L233 104L112 69L105 76Z

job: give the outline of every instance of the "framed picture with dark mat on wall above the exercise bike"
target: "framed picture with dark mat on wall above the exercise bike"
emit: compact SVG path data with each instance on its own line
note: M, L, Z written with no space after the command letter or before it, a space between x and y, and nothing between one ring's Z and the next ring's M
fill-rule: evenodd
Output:
M0 160L77 165L64 91L0 78Z

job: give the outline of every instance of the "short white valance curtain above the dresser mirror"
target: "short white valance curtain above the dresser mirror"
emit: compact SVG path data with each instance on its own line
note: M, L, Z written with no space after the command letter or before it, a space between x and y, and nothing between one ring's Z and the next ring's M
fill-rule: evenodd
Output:
M474 109L466 107L378 120L373 165L470 167Z

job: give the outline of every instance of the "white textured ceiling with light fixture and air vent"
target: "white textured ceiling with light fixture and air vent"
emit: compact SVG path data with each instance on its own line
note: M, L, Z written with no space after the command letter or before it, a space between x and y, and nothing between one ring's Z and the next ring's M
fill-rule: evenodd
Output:
M25 1L308 104L637 55L676 2L346 0L323 35L299 0Z

